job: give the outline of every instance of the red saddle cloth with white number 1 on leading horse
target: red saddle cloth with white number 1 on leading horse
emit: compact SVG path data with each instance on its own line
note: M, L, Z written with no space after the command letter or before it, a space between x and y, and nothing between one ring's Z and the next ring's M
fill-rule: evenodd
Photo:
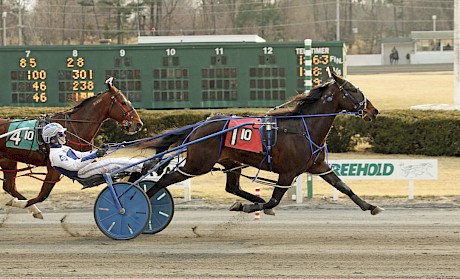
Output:
M245 126L235 128L227 132L225 146L249 152L262 152L262 141L260 139L260 118L238 118L231 119L228 129L247 123Z

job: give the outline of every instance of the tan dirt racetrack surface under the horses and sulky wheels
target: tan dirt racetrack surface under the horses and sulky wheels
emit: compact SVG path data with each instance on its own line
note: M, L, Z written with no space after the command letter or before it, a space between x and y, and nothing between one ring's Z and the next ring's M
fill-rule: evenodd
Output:
M61 219L65 220L61 223ZM460 278L460 207L178 206L156 235L105 237L91 209L0 212L1 278Z

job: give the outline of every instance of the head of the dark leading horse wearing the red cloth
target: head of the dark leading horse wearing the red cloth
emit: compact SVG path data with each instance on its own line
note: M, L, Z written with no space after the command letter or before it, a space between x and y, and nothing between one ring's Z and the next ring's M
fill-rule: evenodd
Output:
M379 111L364 93L350 81L337 74L332 67L329 67L329 72L333 79L333 86L337 87L336 92L342 95L342 98L337 98L339 109L348 112L356 112L364 121L374 120L377 114L379 114ZM333 96L328 96L326 99L332 100L332 97Z

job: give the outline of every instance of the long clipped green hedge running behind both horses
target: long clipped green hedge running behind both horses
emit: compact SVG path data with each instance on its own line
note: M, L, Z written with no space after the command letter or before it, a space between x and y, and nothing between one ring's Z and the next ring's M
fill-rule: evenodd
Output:
M42 113L50 113L51 109L8 108L3 111L7 117L31 118ZM96 144L149 137L167 129L199 122L217 112L255 115L263 114L265 111L266 109L139 110L144 122L141 132L128 136L114 121L107 121L96 138ZM383 154L460 156L459 131L459 111L392 110L381 113L373 122L365 122L355 116L339 116L334 122L327 142L330 152L365 148Z

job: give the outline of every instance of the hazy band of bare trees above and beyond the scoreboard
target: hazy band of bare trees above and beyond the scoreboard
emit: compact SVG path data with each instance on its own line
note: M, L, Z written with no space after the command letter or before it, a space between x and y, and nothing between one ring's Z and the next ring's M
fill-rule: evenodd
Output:
M378 53L382 38L432 30L432 15L437 15L437 30L454 26L453 0L338 3L341 38L349 53ZM1 11L8 12L9 41L19 43L21 38L25 44L86 44L103 37L126 43L139 33L335 40L335 7L336 1L319 0L0 0Z

